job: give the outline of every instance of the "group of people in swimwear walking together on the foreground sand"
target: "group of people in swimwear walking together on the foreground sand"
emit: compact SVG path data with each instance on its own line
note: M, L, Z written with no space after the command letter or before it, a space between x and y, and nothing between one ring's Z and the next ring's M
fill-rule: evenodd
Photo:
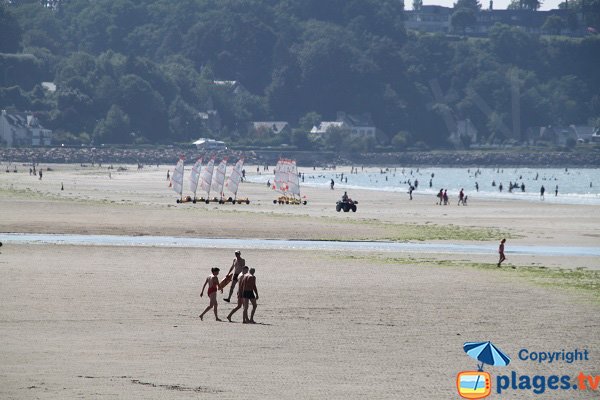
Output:
M243 307L243 323L254 324L254 313L256 311L257 306L256 301L258 300L258 289L256 287L256 277L254 276L255 269L249 268L246 265L246 260L242 258L241 251L237 250L235 252L235 258L233 259L231 268L229 268L229 272L227 273L227 276L223 279L223 282L219 281L219 272L219 268L211 268L211 275L209 275L206 278L206 280L204 281L204 286L202 286L202 292L200 293L200 297L204 296L204 289L208 286L206 294L208 295L210 303L208 307L206 307L206 309L202 312L202 314L199 315L200 320L203 320L204 314L213 309L215 313L215 319L217 321L221 321L217 312L217 290L220 290L221 293L223 293L223 288L227 286L227 283L229 283L229 281L231 281L229 297L223 300L229 303L231 301L233 291L237 286L237 306L233 310L231 310L229 315L227 315L227 320L229 322L233 322L231 321L231 317L240 308ZM250 311L250 315L248 315L248 308L250 304L252 304L252 311Z

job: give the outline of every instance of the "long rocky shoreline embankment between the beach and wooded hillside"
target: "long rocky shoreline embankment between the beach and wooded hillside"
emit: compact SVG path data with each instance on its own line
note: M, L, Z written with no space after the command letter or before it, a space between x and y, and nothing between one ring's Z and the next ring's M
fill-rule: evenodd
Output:
M280 157L297 160L301 166L326 165L410 165L448 167L600 167L600 151L410 151L398 153L345 154L325 151L228 150L200 151L193 147L45 147L2 148L0 163L73 163L73 164L174 164L180 156L231 161L243 157L247 164L273 165Z

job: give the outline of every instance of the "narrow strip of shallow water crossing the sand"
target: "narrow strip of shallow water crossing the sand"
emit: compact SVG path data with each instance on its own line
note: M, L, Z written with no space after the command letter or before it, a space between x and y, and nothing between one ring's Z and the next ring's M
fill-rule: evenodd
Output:
M219 239L174 236L54 235L0 233L0 242L82 246L194 247L211 249L385 251L419 253L489 254L495 244L344 242L316 240ZM600 247L510 246L507 254L544 256L598 256Z

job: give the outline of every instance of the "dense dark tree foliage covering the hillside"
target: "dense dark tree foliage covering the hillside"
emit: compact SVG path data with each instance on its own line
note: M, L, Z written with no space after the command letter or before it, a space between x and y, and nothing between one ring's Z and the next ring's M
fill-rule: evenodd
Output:
M599 4L569 2L592 28ZM455 30L480 7L458 0ZM484 140L520 140L515 102L522 132L600 121L598 35L496 25L487 38L459 38L407 32L402 21L397 0L2 1L0 106L34 111L82 143L210 135L311 148L310 128L338 111L369 113L379 143L396 149L447 146L464 119ZM549 19L544 30L567 23ZM247 128L271 119L294 129L273 138ZM339 136L323 144L376 145Z

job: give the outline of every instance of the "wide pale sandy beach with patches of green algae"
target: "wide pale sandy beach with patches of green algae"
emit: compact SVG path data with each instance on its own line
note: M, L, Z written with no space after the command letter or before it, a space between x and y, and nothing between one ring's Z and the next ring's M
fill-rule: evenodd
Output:
M410 201L362 190L349 193L356 213L336 213L338 189L303 187L308 204L286 206L249 183L239 191L248 205L177 204L172 167L40 167L42 180L28 167L0 173L0 232L493 246L506 237L508 259L496 268L495 251L244 250L260 292L258 324L248 325L241 312L235 323L198 318L202 283L214 266L224 276L229 248L4 243L0 398L458 398L456 374L477 366L462 345L487 340L513 360L486 367L492 376L600 375L600 259L510 254L516 245L597 248L594 206L471 194L466 207L437 206L418 192ZM224 319L233 306L222 297ZM523 348L585 348L590 359L524 361ZM493 389L490 398L537 397Z

